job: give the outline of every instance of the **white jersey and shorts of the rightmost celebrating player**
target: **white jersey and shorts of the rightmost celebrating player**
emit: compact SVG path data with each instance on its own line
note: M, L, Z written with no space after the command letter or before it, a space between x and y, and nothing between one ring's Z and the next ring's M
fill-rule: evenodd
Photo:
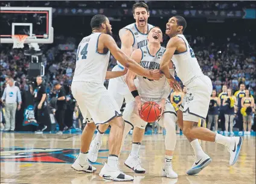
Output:
M182 100L180 110L183 111L183 120L198 122L200 118L205 119L207 116L213 85L211 79L203 74L185 36L177 36L181 37L187 46L187 51L174 52L171 59L178 77L187 86L187 94Z

